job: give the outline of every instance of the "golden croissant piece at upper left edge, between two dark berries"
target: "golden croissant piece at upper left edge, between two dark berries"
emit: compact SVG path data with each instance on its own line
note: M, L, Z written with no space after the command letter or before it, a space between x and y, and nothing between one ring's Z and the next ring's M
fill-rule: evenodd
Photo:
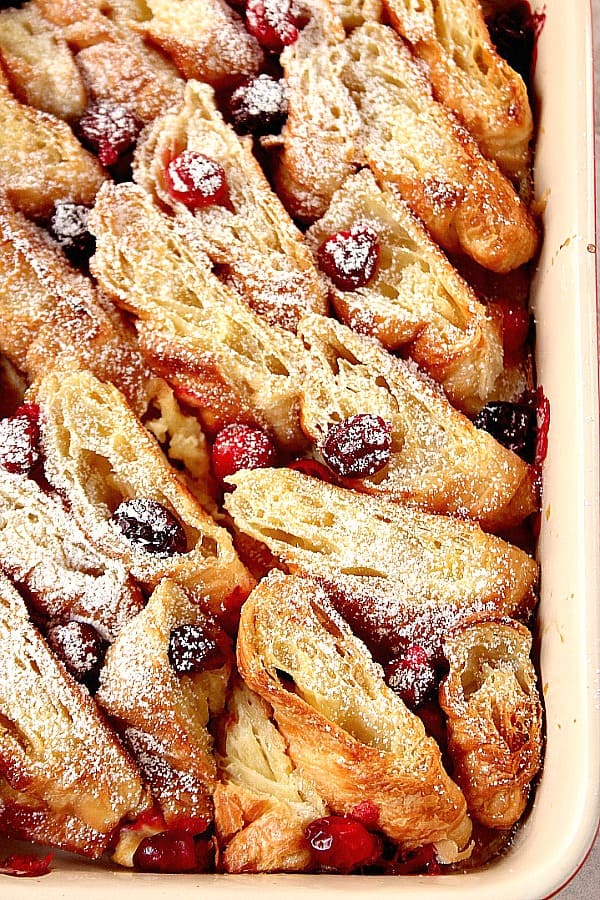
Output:
M17 209L49 219L56 200L91 203L106 177L66 122L21 103L0 83L0 188Z

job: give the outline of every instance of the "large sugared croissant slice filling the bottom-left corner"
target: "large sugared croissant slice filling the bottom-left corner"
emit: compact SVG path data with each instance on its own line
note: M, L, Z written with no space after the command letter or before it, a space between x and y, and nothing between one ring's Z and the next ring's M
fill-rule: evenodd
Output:
M147 806L139 773L0 576L0 833L97 858Z

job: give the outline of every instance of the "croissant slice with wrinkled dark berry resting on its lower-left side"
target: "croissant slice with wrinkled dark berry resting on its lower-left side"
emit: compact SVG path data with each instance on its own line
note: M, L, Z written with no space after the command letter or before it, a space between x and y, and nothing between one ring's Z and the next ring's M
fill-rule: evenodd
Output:
M492 530L535 510L527 463L457 412L413 366L334 319L308 316L299 334L310 351L302 427L317 449L324 452L332 428L365 411L389 427L387 463L366 477L344 478L346 486L468 516Z

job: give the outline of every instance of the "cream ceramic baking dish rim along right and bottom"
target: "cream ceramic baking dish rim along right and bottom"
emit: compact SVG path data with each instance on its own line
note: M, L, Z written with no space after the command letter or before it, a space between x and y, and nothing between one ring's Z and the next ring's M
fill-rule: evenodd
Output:
M535 181L546 200L533 285L538 380L550 401L538 631L547 743L532 809L510 850L468 875L151 875L57 853L42 879L1 878L3 900L307 900L337 896L542 900L588 851L600 791L598 355L589 0L551 0L539 38Z

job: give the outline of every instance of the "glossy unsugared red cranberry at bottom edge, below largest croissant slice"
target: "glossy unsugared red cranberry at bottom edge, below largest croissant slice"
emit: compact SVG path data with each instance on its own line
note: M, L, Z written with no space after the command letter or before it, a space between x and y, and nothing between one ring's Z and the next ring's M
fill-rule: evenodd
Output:
M375 863L381 855L377 835L352 816L324 816L307 825L306 838L319 868L352 872Z

